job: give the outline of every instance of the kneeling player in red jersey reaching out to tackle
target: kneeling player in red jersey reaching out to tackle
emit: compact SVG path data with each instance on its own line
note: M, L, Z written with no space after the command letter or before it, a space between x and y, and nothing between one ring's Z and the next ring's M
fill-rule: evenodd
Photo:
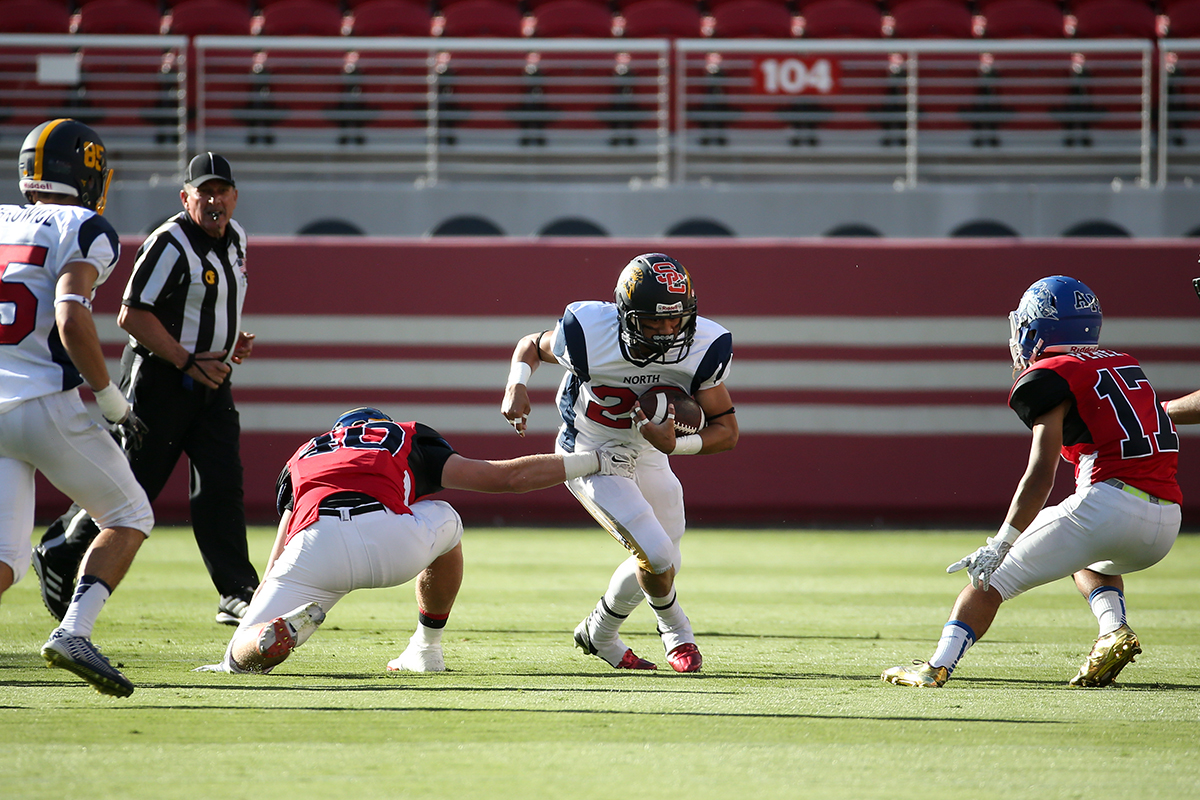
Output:
M462 584L462 521L443 488L532 492L583 475L631 475L618 449L478 461L433 428L373 408L337 417L280 473L280 528L254 593L218 664L197 672L268 673L304 644L354 589L416 578L418 627L390 672L443 672L442 631Z

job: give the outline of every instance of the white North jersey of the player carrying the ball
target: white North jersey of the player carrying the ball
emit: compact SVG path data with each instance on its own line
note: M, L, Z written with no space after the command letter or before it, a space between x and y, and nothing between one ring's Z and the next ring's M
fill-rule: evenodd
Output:
M558 387L563 415L559 445L594 450L605 444L649 447L634 429L634 402L652 386L676 386L689 395L725 381L733 359L733 336L697 317L691 350L679 363L630 362L620 350L617 306L588 300L566 307L554 329L553 351L568 373Z

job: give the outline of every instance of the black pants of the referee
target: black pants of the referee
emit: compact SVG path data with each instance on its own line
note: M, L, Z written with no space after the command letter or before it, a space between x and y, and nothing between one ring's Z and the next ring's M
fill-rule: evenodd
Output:
M134 477L154 501L179 457L187 456L192 531L204 566L218 593L247 596L258 572L246 545L241 423L229 381L206 389L126 347L120 386L148 428L142 446L126 451Z

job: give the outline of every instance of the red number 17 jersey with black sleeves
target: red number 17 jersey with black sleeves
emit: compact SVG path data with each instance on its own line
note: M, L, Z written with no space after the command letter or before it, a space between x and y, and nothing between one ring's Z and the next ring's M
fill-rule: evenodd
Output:
M1062 457L1075 467L1076 487L1115 477L1183 501L1175 480L1180 438L1136 359L1114 350L1040 359L1013 384L1008 404L1032 429L1068 398Z

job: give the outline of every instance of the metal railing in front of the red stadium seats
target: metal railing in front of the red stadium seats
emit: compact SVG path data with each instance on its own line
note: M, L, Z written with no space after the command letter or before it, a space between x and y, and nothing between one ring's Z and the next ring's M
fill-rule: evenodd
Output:
M1164 185L1200 175L1196 88L1193 40L0 35L0 157L77 116L150 182L216 149L246 178L425 185Z

